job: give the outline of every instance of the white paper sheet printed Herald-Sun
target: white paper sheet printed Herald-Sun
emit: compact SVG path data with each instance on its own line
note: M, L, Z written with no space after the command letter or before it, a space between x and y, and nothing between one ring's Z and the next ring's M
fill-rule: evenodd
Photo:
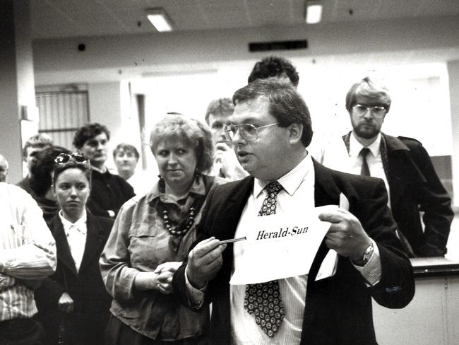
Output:
M319 208L289 218L254 217L250 231L245 232L247 240L234 243L240 246L241 256L229 283L262 283L308 274L330 228L330 223L318 219L318 212Z

